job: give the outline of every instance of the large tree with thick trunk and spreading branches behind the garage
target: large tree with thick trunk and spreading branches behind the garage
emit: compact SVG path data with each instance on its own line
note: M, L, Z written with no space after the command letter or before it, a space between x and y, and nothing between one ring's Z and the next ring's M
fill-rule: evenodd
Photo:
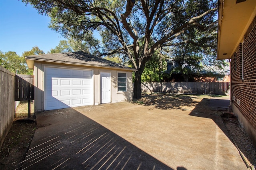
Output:
M120 53L137 69L134 98L141 98L141 75L156 50L178 44L188 30L203 32L214 25L217 0L22 0L52 18L51 27L66 37L102 37L101 55ZM199 33L200 33L199 32ZM100 55L100 56L101 56Z

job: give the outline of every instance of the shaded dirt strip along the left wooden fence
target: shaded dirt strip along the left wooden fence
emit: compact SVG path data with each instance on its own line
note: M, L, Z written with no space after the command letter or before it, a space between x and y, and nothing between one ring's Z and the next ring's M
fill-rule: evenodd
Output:
M10 128L0 150L0 169L21 169L29 145L36 131L36 122L24 120L28 117L28 102L20 102L16 109L16 119ZM34 104L31 103L31 117L34 117ZM14 167L14 162L20 162L19 167Z

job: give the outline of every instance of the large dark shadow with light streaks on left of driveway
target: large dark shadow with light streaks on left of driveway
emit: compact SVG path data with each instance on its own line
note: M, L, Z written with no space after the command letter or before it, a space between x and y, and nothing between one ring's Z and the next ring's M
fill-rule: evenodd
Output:
M39 128L22 169L172 170L72 108L46 111L36 117Z

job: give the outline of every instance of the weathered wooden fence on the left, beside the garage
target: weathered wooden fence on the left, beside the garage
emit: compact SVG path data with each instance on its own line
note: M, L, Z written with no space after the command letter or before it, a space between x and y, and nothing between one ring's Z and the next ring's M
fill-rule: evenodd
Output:
M30 117L30 100L34 100L34 76L15 75L0 66L0 144L12 126L15 118L15 101L28 100L28 117Z

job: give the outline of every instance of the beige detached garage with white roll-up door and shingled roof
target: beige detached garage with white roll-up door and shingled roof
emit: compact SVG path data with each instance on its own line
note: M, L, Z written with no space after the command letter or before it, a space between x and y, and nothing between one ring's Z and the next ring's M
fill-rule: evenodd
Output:
M132 100L133 68L82 52L25 58L34 69L36 112Z

